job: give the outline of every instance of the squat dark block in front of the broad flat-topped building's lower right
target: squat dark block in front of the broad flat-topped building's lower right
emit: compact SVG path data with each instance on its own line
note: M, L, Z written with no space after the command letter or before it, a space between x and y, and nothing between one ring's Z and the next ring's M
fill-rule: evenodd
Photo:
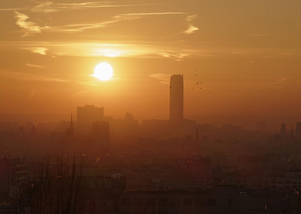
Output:
M96 121L92 124L92 142L95 145L106 146L110 142L109 122Z

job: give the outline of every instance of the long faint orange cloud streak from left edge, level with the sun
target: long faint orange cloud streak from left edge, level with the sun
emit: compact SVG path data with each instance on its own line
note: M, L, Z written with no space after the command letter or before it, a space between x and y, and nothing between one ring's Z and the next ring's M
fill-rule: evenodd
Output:
M28 74L23 72L11 72L7 70L0 70L0 76L11 78L19 81L42 81L42 82L69 82L68 80L57 78L45 74Z

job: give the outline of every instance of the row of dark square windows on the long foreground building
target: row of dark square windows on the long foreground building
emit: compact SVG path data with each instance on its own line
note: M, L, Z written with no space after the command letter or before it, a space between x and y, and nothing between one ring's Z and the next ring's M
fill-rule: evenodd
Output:
M194 203L193 203L194 202ZM167 206L168 200L166 198L160 198L159 199L159 205L160 206ZM184 206L204 206L205 205L205 200L204 199L183 199L183 203L180 204L180 199L171 199L170 204L173 206L177 205L184 205ZM234 199L229 199L228 200L228 205L229 206L234 206L235 200ZM124 206L130 206L131 205L131 199L130 198L123 198L122 199L122 205ZM134 205L143 205L143 199L142 198L135 198L134 199ZM154 198L147 198L146 199L146 205L156 205L155 199ZM216 206L216 199L208 199L207 200L207 205L208 206Z

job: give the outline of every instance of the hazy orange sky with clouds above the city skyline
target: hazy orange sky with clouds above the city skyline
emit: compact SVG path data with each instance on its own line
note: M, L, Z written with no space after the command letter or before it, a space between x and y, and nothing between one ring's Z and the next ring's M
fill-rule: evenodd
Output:
M184 74L185 115L300 114L300 8L299 0L1 1L0 113L94 103L105 115L168 118L169 76ZM90 76L101 62L113 79Z

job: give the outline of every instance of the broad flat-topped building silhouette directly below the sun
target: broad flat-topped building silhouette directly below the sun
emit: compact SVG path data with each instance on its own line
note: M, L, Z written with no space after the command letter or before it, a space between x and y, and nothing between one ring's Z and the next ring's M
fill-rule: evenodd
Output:
M104 120L104 107L98 108L94 105L77 107L77 129L78 133L91 133L92 123Z

